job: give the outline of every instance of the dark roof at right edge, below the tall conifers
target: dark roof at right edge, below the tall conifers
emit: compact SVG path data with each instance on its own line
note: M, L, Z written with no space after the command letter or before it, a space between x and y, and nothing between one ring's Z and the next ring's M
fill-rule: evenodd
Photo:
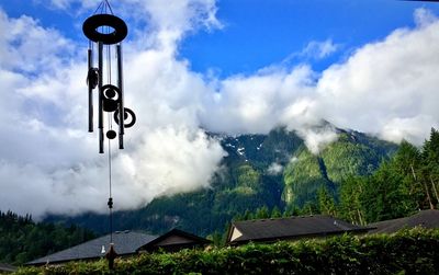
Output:
M414 228L417 226L439 228L439 210L421 210L409 217L370 224L370 227L376 228L371 233L393 233L403 228Z

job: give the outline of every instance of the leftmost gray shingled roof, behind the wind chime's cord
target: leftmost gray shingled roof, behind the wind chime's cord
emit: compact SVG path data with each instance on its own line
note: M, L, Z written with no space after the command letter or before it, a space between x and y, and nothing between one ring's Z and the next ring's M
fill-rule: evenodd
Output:
M115 232L113 233L114 250L119 255L128 255L136 253L136 250L146 243L156 239L157 236L150 236L139 232ZM29 262L29 265L38 265L46 263L60 263L75 260L88 260L97 259L105 255L102 253L102 247L104 251L109 251L110 247L110 234L81 243L79 245L56 252L54 254L34 260Z

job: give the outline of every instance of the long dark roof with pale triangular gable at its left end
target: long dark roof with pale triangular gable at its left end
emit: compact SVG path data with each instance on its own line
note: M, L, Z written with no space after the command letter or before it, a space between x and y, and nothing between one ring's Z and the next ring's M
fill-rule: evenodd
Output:
M227 242L273 241L368 230L370 228L354 226L325 215L257 219L233 222Z

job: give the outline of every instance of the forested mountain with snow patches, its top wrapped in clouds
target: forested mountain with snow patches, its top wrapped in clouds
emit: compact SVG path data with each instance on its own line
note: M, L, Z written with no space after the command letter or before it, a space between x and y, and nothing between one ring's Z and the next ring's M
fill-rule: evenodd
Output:
M337 140L317 154L284 127L268 135L209 134L227 151L211 188L158 197L147 206L114 214L115 230L142 229L161 233L178 227L201 236L223 231L237 215L257 208L301 208L317 199L326 187L337 197L337 186L349 175L371 174L397 146L354 130L336 129ZM47 217L108 231L108 216Z

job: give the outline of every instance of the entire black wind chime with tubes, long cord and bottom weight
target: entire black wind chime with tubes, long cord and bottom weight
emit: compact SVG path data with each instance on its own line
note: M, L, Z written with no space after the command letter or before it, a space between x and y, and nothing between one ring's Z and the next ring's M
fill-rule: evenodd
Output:
M87 76L89 88L89 131L93 131L93 92L98 88L99 153L104 153L105 137L109 144L110 196L108 206L110 209L110 249L105 256L109 260L109 267L112 270L114 259L117 254L113 244L110 141L119 135L119 149L124 149L125 128L132 127L136 122L134 112L124 105L122 41L126 37L128 28L122 19L113 14L109 1L103 0L94 14L83 22L82 31L87 38L89 38L89 70ZM95 58L98 59L98 67L94 64ZM112 64L116 64L116 68L112 68ZM106 133L104 128L104 114L108 117L106 123L109 128ZM117 133L113 130L113 121L119 126Z

